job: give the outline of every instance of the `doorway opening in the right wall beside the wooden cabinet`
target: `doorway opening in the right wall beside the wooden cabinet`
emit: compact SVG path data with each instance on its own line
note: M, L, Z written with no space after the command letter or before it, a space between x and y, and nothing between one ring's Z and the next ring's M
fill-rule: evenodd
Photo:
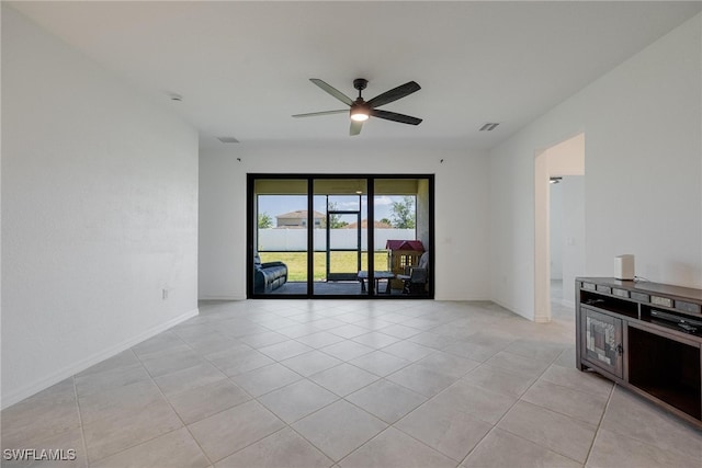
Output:
M552 301L570 307L585 272L585 134L539 151L534 168L534 321L548 322Z

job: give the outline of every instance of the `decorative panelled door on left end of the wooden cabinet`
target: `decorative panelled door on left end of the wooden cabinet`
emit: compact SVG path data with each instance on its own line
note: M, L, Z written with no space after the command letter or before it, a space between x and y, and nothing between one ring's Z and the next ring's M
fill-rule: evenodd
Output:
M580 319L582 358L622 378L622 320L585 307Z

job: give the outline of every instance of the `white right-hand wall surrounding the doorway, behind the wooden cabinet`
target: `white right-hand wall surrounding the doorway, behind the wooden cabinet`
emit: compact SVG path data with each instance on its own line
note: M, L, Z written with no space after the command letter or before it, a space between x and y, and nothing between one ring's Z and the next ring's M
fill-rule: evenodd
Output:
M534 156L585 133L586 266L702 287L702 16L490 151L494 300L534 317Z

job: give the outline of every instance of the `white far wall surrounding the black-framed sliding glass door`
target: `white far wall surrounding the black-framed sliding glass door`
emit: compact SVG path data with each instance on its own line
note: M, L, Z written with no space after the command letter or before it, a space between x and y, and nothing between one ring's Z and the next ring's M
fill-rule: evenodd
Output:
M257 172L434 173L435 297L488 298L486 155L440 145L431 150L370 145L360 138L314 146L242 142L201 153L201 298L246 297L246 174Z

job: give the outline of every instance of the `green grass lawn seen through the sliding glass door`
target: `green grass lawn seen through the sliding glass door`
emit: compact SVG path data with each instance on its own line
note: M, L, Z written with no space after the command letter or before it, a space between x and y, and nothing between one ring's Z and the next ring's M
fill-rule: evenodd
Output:
M261 262L283 262L287 265L287 281L307 281L307 252L259 252ZM355 252L331 252L332 273L358 272ZM327 252L315 252L314 281L327 277ZM375 252L375 270L387 270L387 251ZM361 252L361 270L367 270L369 253Z

